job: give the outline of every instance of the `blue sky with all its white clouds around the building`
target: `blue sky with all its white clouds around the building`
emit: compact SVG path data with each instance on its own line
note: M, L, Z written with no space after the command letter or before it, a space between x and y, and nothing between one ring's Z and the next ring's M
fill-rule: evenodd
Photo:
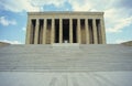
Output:
M108 44L132 41L131 0L0 0L0 42L25 44L26 12L105 12Z

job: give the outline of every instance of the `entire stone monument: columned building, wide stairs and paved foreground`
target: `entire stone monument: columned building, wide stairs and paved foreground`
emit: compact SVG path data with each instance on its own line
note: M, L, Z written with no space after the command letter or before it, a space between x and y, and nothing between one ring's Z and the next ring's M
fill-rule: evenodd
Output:
M0 86L132 86L132 42L105 43L103 12L29 12L26 44L0 42Z

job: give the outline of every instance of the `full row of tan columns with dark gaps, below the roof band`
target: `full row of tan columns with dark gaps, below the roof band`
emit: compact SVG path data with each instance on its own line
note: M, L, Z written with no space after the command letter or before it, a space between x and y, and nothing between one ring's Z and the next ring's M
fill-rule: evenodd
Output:
M26 44L105 44L103 19L29 19Z

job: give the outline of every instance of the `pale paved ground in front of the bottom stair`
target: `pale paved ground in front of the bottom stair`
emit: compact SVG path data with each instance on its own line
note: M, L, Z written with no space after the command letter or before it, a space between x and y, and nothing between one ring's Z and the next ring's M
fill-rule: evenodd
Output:
M132 86L132 72L0 72L0 86Z

